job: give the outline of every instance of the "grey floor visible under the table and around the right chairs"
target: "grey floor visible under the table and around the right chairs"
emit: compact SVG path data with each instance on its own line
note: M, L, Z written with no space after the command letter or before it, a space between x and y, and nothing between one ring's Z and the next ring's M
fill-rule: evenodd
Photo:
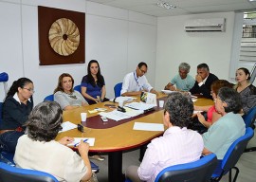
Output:
M248 143L247 147L256 147L256 137L254 136ZM123 153L122 159L122 171L125 172L125 169L130 165L139 165L138 161L139 150L130 151ZM99 182L108 182L107 173L108 173L108 158L105 156L104 161L93 160L100 167L100 173L97 173ZM254 182L256 181L256 152L244 153L239 159L236 165L240 173L238 174L237 182ZM224 176L221 180L222 182L228 182L228 175Z

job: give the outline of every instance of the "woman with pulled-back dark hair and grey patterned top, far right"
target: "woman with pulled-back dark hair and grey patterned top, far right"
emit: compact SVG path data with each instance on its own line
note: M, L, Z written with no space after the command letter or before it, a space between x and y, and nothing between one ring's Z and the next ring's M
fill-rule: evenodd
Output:
M256 106L256 87L249 83L250 74L245 67L237 69L235 80L237 84L234 88L240 94L243 112L247 114L251 108Z

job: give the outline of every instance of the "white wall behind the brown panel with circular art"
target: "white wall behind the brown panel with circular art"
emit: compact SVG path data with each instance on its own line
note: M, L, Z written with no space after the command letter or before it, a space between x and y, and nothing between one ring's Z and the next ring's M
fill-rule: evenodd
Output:
M85 64L39 65L37 6L85 12ZM114 97L114 85L139 62L149 64L148 80L155 84L153 16L84 0L5 0L0 1L0 25L0 73L9 74L9 86L20 77L31 79L35 103L53 92L63 72L80 84L91 59L101 64L108 98ZM2 88L0 83L0 100Z

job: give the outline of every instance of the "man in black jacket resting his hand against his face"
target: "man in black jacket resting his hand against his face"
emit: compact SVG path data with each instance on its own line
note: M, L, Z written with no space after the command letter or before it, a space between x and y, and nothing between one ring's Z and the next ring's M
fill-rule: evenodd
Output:
M195 76L195 80L196 82L194 82L190 92L211 99L210 85L212 82L217 81L218 78L210 73L208 64L197 65L197 75Z

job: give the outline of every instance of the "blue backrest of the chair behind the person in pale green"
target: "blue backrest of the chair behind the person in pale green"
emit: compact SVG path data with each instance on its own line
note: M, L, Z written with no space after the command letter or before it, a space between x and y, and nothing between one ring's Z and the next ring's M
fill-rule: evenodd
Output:
M222 160L221 168L224 173L228 173L229 170L236 165L240 156L247 148L248 141L253 137L253 135L254 132L252 128L247 127L246 134L242 137L239 137L231 144L229 150L227 151L226 155L224 155L224 158Z

